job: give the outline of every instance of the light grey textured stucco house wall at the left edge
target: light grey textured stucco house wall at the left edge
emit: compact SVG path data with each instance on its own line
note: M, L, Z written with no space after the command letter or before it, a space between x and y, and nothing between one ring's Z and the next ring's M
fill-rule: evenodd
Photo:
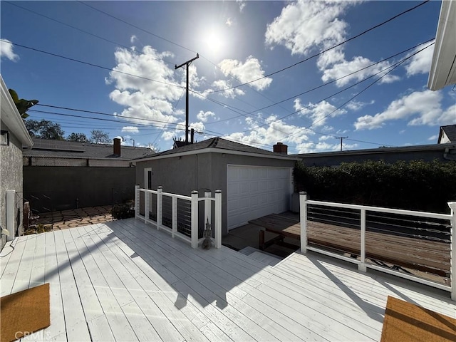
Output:
M4 123L1 123L1 130L9 130ZM22 195L22 144L13 134L9 135L9 146L0 146L0 224L6 229L6 190L16 190L16 197ZM22 234L22 205L18 201L19 212L16 212L15 227L18 233ZM2 239L3 242L3 239ZM3 248L3 244L1 245Z

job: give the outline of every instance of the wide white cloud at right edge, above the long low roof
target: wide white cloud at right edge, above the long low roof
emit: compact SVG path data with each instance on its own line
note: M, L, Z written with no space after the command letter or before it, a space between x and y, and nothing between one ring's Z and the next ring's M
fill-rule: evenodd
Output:
M455 123L456 105L442 110L442 94L431 90L415 91L394 100L388 108L375 115L364 115L354 123L356 130L381 128L390 120L411 120L408 125L446 125Z

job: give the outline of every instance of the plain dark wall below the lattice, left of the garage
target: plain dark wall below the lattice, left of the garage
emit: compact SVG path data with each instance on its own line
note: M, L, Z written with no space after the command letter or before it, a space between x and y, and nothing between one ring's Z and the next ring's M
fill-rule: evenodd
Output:
M134 193L135 167L24 166L24 197L36 212L109 205Z

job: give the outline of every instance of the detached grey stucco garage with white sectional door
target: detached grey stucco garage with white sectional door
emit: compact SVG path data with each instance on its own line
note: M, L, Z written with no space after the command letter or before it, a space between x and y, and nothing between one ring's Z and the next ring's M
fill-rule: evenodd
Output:
M222 190L222 234L249 219L290 209L295 157L278 143L271 152L212 138L135 160L142 188L190 196Z

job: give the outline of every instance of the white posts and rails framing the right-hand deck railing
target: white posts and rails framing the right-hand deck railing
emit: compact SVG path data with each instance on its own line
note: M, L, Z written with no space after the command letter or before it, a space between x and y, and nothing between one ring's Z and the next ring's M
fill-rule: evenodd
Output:
M358 269L360 271L367 271L368 268L375 269L377 271L383 271L388 274L393 274L395 276L401 276L405 279L410 279L413 281L418 281L422 284L426 284L429 286L436 287L437 289L442 289L445 291L451 292L452 300L456 301L456 202L449 202L448 206L451 209L450 214L439 214L433 212L417 212L417 211L410 211L410 210L403 210L403 209L390 209L390 208L383 208L383 207L369 207L357 204L342 204L342 203L335 203L335 202L322 202L322 201L314 201L307 199L306 192L299 193L299 203L300 203L300 222L301 222L301 252L306 253L307 250L318 252L321 254L326 254L331 257L336 257L338 259L343 259L345 261L349 261L353 264L358 264ZM307 227L307 221L309 219L309 207L312 205L318 207L336 207L336 208L344 208L344 209L351 209L354 212L359 213L359 229L360 229L360 241L359 241L359 257L346 257L342 254L338 254L336 252L331 252L330 249L324 249L322 247L316 247L309 244L309 228ZM450 235L450 239L448 240L450 244L449 250L449 259L450 259L450 267L448 269L449 276L450 276L450 285L448 284L440 284L435 281L429 281L427 279L423 279L420 276L415 276L413 274L405 274L399 271L395 271L394 269L390 269L388 267L379 266L378 264L372 264L366 262L366 212L375 212L375 213L385 213L390 215L406 215L409 217L424 217L426 219L439 219L444 220L445 222L449 222L449 232L447 234ZM383 234L383 233L382 233ZM423 237L427 238L427 237ZM405 247L405 246L404 246ZM388 248L388 246L385 246ZM416 262L419 264L422 262L421 260L412 260L412 262Z

